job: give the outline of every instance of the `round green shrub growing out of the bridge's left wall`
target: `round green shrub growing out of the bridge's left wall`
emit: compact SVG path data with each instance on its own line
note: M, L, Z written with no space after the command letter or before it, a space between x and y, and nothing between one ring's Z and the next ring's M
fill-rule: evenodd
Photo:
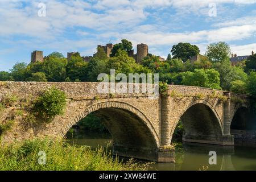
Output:
M53 119L64 113L66 105L65 93L54 86L36 98L33 106L35 115L43 119Z

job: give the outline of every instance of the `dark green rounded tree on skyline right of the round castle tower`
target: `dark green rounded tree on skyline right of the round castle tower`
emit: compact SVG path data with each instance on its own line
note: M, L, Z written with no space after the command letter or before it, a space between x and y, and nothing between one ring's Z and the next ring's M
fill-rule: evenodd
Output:
M191 45L189 43L179 43L172 46L171 49L173 59L181 59L183 63L191 59L200 53L199 48L196 45Z

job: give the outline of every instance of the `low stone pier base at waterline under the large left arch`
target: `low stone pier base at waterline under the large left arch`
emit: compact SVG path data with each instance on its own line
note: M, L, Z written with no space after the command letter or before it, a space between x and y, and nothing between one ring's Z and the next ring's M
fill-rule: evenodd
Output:
M151 160L154 162L174 162L174 147L133 148L113 144L113 155L127 158Z

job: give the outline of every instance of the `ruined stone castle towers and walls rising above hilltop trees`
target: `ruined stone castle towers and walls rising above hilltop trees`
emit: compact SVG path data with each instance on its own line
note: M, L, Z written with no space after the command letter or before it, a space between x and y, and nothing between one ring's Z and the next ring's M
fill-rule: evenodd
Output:
M101 47L104 49L106 55L110 57L110 54L112 53L112 49L114 47L113 44L106 44L106 46L98 45L98 48ZM67 53L67 59L70 60L71 56L74 55L76 52L68 52ZM148 55L148 46L147 44L138 44L137 45L137 53L134 54L134 50L131 50L128 53L128 56L133 57L136 61L136 63L141 63L144 57ZM95 56L95 54L93 55ZM89 61L92 59L93 56L81 56L84 61ZM164 58L159 57L160 61L164 61ZM36 61L43 62L43 52L42 51L34 51L31 53L31 63L35 63Z

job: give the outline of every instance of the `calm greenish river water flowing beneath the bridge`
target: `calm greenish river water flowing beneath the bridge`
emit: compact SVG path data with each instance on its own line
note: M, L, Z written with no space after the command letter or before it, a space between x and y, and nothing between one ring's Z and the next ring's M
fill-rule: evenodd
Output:
M112 137L109 134L82 132L68 135L69 143L78 145L108 147L112 149ZM209 164L209 151L216 151L217 164ZM146 163L143 160L137 162ZM175 151L175 163L151 164L151 170L256 170L256 148L240 146L216 146L208 144L183 143Z

